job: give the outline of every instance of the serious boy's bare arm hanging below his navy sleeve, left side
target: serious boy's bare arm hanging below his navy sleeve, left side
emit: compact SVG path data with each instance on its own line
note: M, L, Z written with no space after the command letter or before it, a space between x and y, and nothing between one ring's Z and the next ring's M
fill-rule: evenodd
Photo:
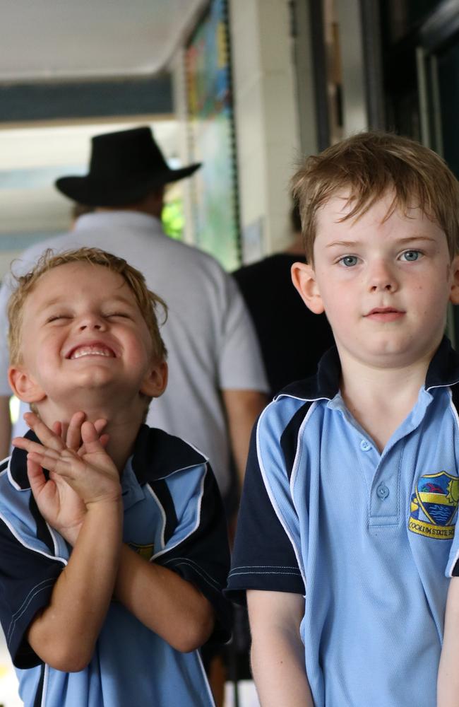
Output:
M262 707L314 707L299 625L304 598L286 592L247 592L251 666Z

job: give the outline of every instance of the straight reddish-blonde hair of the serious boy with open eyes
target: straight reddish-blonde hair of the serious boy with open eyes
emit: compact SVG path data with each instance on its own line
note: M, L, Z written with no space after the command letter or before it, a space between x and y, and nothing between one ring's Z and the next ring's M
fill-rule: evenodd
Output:
M459 252L459 183L446 163L427 147L391 133L364 132L306 159L292 179L302 219L308 262L314 262L318 209L339 193L352 206L342 218L358 218L387 192L404 213L419 206L446 233L451 258Z

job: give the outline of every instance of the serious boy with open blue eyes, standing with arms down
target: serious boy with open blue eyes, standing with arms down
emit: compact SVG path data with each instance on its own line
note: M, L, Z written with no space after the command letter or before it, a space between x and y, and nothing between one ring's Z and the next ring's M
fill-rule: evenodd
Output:
M443 332L459 185L428 148L372 133L293 185L293 284L336 346L261 414L249 453L228 592L249 607L261 704L457 706L459 357Z

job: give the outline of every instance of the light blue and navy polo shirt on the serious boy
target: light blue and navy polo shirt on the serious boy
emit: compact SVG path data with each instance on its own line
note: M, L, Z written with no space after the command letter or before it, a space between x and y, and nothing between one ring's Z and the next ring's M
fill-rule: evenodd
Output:
M443 340L380 454L345 407L332 349L251 443L228 593L305 595L316 707L434 707L459 501L459 358Z

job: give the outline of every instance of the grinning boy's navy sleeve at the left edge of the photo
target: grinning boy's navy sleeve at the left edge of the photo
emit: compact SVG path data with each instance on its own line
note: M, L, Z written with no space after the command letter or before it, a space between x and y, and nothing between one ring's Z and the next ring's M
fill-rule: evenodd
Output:
M0 621L18 668L42 662L25 636L35 614L49 604L63 568L61 561L25 547L0 519Z

